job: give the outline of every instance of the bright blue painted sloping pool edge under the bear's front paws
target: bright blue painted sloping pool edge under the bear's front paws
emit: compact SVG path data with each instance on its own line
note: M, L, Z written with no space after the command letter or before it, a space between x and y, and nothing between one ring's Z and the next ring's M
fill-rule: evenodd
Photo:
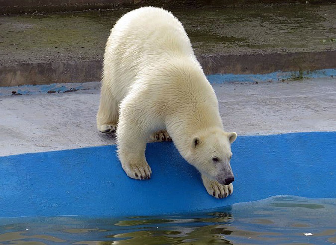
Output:
M0 217L193 212L275 195L336 198L336 132L238 137L234 192L210 196L172 143L147 145L153 174L130 179L115 146L0 158Z

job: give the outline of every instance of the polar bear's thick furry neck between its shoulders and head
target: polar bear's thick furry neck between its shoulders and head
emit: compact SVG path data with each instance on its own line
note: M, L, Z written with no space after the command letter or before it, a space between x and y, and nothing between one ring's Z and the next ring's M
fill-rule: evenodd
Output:
M183 155L189 152L197 133L223 130L218 100L201 65L192 57L172 59L164 67L163 73L169 78L166 82L168 85L163 84L164 91L169 94L164 106L165 124L175 146Z

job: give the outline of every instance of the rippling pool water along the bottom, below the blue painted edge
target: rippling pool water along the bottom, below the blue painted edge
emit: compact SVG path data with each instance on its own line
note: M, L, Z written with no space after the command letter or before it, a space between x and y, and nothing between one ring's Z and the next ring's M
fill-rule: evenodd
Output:
M0 218L0 244L336 244L336 199L276 196L160 217Z

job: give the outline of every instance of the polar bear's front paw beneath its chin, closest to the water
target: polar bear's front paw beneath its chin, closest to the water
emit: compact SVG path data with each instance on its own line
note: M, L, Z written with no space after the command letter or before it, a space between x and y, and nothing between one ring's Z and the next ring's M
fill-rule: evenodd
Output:
M224 198L233 192L232 183L229 185L220 184L216 180L212 180L207 176L202 175L202 180L204 187L207 189L208 193L216 198Z

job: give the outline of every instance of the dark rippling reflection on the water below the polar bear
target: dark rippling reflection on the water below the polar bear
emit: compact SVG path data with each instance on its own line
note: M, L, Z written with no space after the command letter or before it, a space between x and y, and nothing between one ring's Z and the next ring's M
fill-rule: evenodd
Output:
M232 244L226 238L232 231L227 226L230 224L232 215L230 213L210 213L206 216L196 217L174 217L170 220L151 220L147 223L141 220L132 221L133 224L149 224L149 226L138 227L139 231L132 233L121 233L108 236L109 238L123 238L124 240L114 241L118 245L159 245L159 244ZM172 217L173 218L173 217ZM122 222L123 223L123 222ZM129 223L129 222L127 222ZM191 224L193 224L191 226ZM120 225L120 222L117 224Z

